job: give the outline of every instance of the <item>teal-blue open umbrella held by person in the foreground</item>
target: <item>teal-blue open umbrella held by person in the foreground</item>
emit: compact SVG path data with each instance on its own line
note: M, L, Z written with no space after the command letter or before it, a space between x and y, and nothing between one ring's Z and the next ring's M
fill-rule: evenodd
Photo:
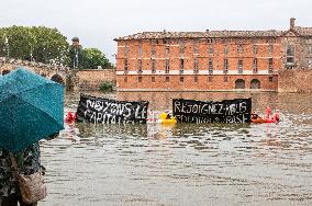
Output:
M64 87L19 68L0 78L0 147L18 152L64 129Z

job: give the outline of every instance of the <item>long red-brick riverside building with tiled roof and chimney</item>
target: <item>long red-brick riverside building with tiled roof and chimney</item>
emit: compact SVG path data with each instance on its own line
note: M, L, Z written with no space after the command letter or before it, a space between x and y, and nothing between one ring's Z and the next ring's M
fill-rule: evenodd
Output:
M311 27L144 32L115 38L120 90L278 90L278 71L311 69Z

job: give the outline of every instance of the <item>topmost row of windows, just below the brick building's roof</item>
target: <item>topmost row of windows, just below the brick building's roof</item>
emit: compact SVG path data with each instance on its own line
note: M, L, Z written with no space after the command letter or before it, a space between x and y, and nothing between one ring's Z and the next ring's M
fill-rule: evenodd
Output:
M180 45L179 46L179 50L180 50L180 56L183 56L185 55L185 52L186 52L186 46L185 45ZM243 45L237 45L237 53L238 54L242 54L244 52L244 46ZM129 46L125 46L125 49L124 49L124 55L125 57L127 57L127 54L129 54ZM214 49L213 49L213 46L212 45L209 45L208 47L208 53L210 55L213 55L214 53ZM223 49L223 53L225 55L229 54L229 45L224 45L224 49ZM274 53L274 45L268 45L268 53L269 55L271 56L272 53ZM151 54L152 54L152 57L156 57L156 46L155 45L152 45L151 47ZM169 54L170 54L170 47L168 45L165 46L165 56L166 57L169 57ZM193 54L198 55L199 54L199 45L196 44L193 45ZM258 45L254 45L253 46L253 54L254 55L257 55L258 54ZM138 45L138 57L142 57L142 45Z

